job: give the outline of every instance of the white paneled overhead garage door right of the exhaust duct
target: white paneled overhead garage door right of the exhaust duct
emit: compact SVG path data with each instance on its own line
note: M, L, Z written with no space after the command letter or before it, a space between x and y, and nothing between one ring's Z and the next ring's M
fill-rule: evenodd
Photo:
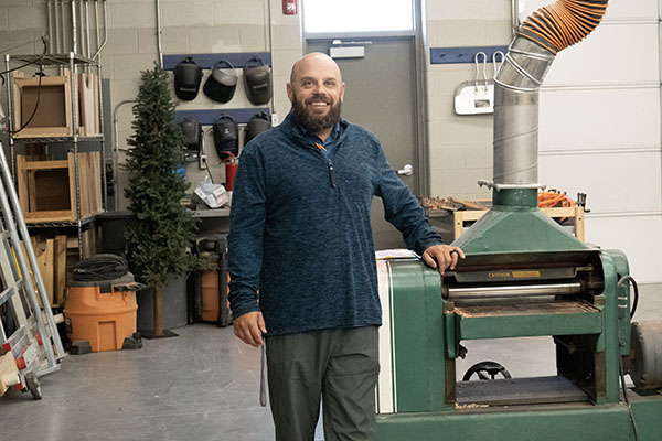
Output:
M640 282L662 282L659 41L658 0L611 0L558 54L540 100L541 182L588 194L587 241L623 250Z

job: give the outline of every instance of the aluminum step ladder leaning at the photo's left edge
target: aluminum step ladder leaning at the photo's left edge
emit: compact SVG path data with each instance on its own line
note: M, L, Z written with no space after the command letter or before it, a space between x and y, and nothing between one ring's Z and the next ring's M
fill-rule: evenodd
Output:
M0 320L0 396L13 386L18 390L29 390L33 398L40 399L39 377L58 370L66 353L2 142L0 175L0 306L7 310L4 319Z

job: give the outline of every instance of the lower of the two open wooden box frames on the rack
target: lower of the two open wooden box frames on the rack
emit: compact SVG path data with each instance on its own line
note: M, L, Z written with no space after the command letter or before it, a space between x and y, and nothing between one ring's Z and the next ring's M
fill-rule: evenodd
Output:
M26 223L76 220L74 153L61 161L28 161L17 154L19 202ZM100 153L78 153L81 218L103 211Z

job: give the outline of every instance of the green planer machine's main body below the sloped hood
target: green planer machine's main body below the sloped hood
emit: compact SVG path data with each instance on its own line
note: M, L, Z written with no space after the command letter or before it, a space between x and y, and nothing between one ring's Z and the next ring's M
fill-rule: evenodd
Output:
M534 211L494 208L515 224ZM540 238L524 236L516 243ZM547 245L477 252L467 244L442 280L419 260L378 261L380 441L662 439L662 322L630 323L624 256ZM456 380L462 341L545 335L556 376ZM627 373L637 386L629 402Z

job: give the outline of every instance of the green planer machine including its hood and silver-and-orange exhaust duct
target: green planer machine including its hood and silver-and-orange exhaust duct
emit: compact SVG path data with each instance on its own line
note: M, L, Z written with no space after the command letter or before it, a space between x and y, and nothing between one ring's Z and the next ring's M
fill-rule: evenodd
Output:
M494 80L494 178L479 182L492 209L453 243L467 258L442 278L420 260L377 262L380 441L662 440L662 321L631 321L622 252L537 208L537 94L563 49L549 34L595 28L607 7L557 3L567 10L542 8L520 28ZM456 379L462 341L526 336L553 338L557 375Z

